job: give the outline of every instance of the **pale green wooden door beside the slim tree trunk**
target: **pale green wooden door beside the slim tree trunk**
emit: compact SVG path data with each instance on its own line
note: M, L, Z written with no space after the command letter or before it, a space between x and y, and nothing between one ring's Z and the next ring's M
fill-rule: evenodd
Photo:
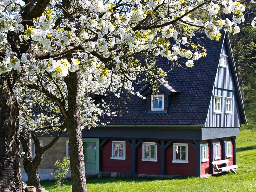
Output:
M96 172L96 142L84 142L85 172Z

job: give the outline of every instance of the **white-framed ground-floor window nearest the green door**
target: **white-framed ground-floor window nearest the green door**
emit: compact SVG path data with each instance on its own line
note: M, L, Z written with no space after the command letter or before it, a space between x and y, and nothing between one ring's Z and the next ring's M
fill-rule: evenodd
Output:
M112 141L111 159L125 160L125 141Z

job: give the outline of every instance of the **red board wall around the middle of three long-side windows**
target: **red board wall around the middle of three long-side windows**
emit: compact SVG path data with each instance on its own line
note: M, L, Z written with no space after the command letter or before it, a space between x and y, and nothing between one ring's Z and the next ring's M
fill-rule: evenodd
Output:
M144 142L154 142L151 140L147 140ZM136 148L136 173L138 174L152 174L152 175L160 175L161 174L161 149L157 146L157 162L152 161L142 161L142 150L143 145L140 144L139 147Z

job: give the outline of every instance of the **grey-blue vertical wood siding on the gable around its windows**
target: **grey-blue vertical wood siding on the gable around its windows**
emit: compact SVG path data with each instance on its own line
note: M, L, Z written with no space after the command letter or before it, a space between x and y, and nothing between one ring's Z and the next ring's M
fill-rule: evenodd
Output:
M228 55L224 45L221 53ZM237 90L235 90L229 62L231 58L229 57L227 58L227 68L218 67L205 127L241 127L241 117L237 103L238 98L236 98ZM214 95L221 96L221 114L214 113ZM226 115L225 97L233 98L232 115Z

